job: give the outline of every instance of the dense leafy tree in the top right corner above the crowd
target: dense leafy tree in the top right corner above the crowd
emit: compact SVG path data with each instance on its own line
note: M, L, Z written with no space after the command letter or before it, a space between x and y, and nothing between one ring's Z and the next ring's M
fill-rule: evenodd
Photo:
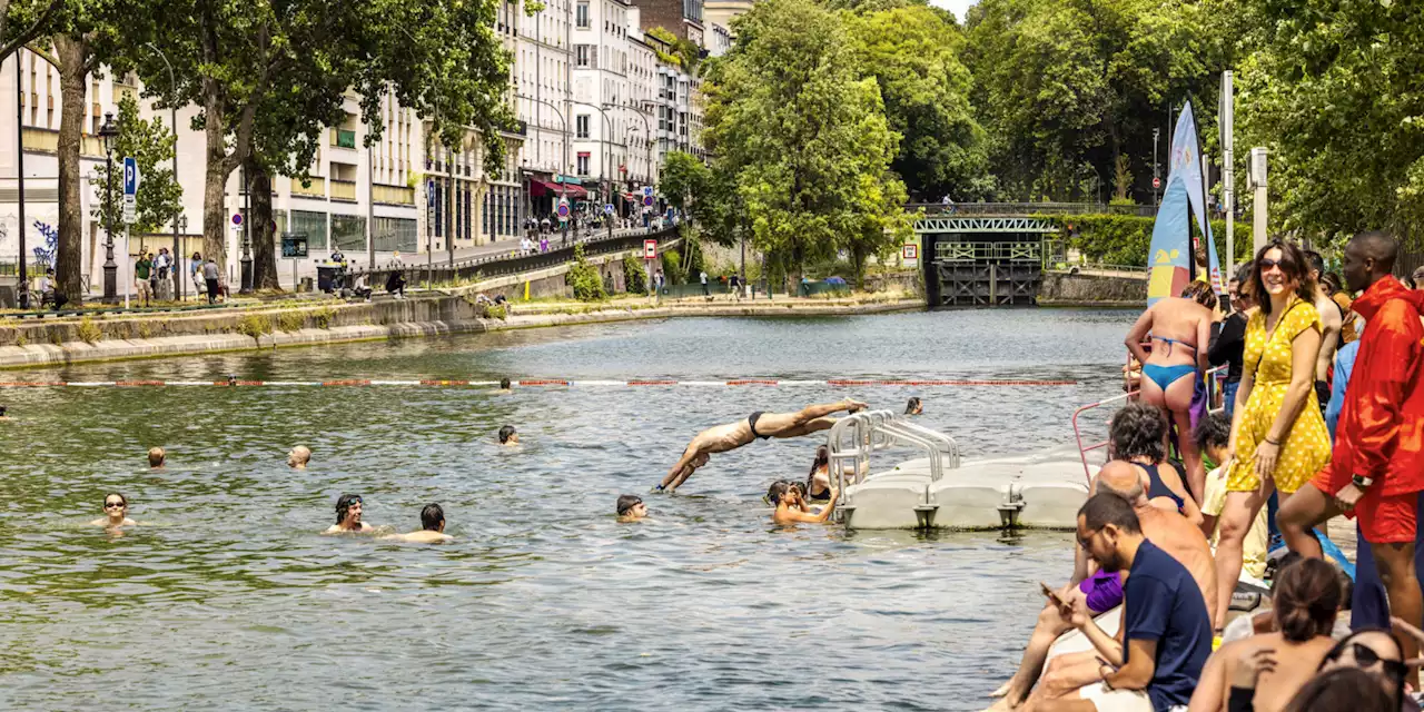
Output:
M1383 228L1424 241L1424 6L1243 10L1242 44L1259 50L1240 71L1240 131L1270 151L1272 221L1316 238Z

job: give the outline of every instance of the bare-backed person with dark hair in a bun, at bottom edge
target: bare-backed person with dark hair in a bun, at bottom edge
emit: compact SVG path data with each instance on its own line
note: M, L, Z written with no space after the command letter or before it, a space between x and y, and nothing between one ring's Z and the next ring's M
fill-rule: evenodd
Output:
M1243 692L1257 712L1280 712L1334 648L1330 631L1344 600L1336 568L1304 558L1276 575L1273 629L1232 641L1206 661L1189 712L1220 712Z

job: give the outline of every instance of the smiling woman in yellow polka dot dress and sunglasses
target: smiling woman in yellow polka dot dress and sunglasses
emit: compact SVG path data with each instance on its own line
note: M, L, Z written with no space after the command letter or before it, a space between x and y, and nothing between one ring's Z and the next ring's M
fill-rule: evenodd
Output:
M1330 433L1314 389L1320 313L1304 253L1272 241L1256 253L1250 289L1260 306L1246 322L1232 419L1233 457L1216 544L1218 629L1240 577L1242 540L1272 491L1284 503L1330 461Z

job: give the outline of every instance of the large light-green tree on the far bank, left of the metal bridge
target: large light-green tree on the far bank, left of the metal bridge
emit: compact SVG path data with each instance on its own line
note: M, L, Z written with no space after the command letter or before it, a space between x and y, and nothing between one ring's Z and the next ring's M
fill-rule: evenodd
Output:
M859 77L839 14L765 0L735 28L738 44L708 70L705 138L752 244L799 276L807 258L833 255L843 232L890 209L864 198L870 184L899 185L889 167L900 135L876 81Z

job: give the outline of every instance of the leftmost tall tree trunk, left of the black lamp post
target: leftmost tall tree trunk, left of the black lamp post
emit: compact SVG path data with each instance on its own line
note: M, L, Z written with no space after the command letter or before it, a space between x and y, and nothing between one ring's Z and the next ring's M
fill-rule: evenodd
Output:
M80 145L84 135L90 47L83 37L56 36L60 63L60 241L56 249L57 289L78 306L84 300L84 211L80 208ZM120 258L122 262L122 258Z

